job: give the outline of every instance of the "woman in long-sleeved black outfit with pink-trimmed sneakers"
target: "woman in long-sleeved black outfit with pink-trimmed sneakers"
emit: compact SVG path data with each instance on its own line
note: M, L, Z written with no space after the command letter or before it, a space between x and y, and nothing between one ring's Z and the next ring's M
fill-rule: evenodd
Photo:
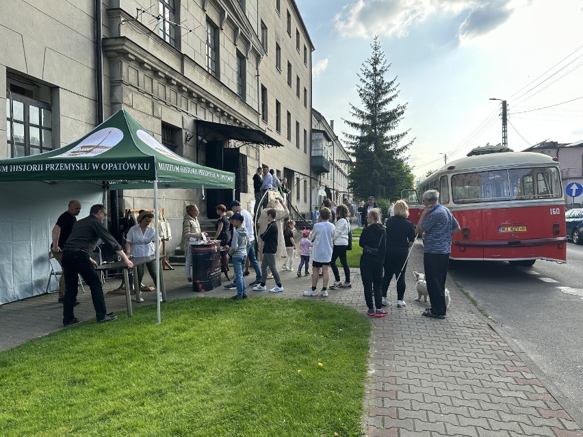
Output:
M383 262L385 261L385 245L387 235L385 226L380 224L380 209L373 208L367 213L368 226L363 229L359 244L363 248L361 255L361 278L363 280L365 301L368 306L367 315L383 317ZM371 248L372 252L367 248ZM374 304L372 296L374 293ZM376 306L376 311L374 307Z

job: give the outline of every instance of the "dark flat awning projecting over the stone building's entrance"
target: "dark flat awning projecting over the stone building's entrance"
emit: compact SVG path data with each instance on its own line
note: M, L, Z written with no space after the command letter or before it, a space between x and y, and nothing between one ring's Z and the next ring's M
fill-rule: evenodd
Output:
M210 140L235 140L241 142L237 146L246 144L259 144L263 147L283 147L283 144L276 142L267 133L259 129L232 126L231 124L221 124L196 120L198 143Z

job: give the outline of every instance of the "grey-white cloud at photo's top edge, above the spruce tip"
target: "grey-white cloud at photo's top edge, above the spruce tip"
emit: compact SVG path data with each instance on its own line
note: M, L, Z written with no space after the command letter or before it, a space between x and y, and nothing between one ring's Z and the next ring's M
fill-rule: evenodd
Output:
M336 31L348 38L402 38L411 27L430 18L453 16L463 22L460 38L474 38L504 23L515 1L521 0L356 0L344 6L333 22Z

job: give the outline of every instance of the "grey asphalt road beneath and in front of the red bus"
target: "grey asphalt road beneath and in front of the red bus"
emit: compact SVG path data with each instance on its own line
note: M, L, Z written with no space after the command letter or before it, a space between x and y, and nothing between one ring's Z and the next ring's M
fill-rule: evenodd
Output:
M583 246L567 263L467 262L450 270L497 326L583 416ZM554 395L558 395L554 393Z

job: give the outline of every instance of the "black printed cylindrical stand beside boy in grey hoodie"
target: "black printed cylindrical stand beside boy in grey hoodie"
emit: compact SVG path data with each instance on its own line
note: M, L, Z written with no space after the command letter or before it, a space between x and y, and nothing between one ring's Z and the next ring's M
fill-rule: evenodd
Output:
M190 246L192 252L192 291L220 287L220 241Z

